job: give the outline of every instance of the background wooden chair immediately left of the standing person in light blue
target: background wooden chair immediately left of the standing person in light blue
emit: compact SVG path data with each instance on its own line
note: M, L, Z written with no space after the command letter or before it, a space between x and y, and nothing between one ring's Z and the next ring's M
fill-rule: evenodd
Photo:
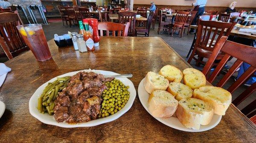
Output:
M171 36L173 36L174 31L178 30L180 33L180 38L182 38L183 29L188 16L189 16L189 12L180 11L176 13L175 23L172 23L169 28L169 34L171 33L171 29L172 29Z

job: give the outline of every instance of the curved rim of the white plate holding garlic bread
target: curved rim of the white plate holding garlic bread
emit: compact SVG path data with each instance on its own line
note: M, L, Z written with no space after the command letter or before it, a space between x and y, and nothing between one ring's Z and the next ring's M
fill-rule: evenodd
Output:
M147 109L147 107L145 106L145 104L143 104L143 102L141 101L142 99L142 97L141 97L141 95L140 95L140 93L139 93L139 89L140 89L140 87L142 87L142 88L144 88L144 85L143 85L143 81L145 80L145 78L143 78L141 81L140 81L140 84L139 84L139 86L138 86L138 97L139 97L139 100L140 100L140 103L142 104L142 106L145 108L145 110L151 115L151 113L148 111L148 109ZM144 90L145 90L145 88L144 88ZM215 115L215 114L214 114ZM212 129L212 128L214 128L215 126L217 126L219 123L220 123L220 121L221 121L221 118L222 118L222 116L221 115L217 115L217 116L219 116L218 117L218 120L208 129L199 129L199 130L194 130L194 129L190 129L190 128L187 128L186 126L184 126L182 129L180 129L180 128L177 128L176 126L171 126L171 125L169 125L169 124L167 124L165 121L162 121L162 119L161 118L157 118L157 117L154 117L153 115L151 115L153 118L155 118L157 121L159 121L159 122L161 122L161 123L163 123L163 124L165 124L166 126L169 126L169 127L171 127L171 128L173 128L173 129L177 129L177 130L180 130L180 131L185 131L185 132L204 132L204 131L207 131L207 130L210 130L210 129ZM170 117L170 118L177 118L177 117ZM203 126L203 125L201 125L201 126ZM205 125L205 126L207 126L207 125Z

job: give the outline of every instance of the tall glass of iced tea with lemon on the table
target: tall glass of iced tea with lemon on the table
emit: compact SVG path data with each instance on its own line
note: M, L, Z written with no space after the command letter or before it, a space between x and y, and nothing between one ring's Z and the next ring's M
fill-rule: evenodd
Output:
M18 25L21 36L38 61L51 59L51 53L47 45L44 31L41 24Z

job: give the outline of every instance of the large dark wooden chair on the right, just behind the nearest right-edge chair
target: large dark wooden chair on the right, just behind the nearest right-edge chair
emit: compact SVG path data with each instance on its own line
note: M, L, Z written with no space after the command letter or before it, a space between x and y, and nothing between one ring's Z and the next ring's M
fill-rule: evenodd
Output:
M209 59L216 44L218 44L221 39L221 36L229 36L234 25L235 23L199 20L194 49L192 50L188 63L190 63L192 59L195 59L196 66L206 64L203 59ZM225 31L225 29L227 30ZM198 55L198 58L195 57L196 55ZM223 56L222 53L219 53L216 59L221 60Z

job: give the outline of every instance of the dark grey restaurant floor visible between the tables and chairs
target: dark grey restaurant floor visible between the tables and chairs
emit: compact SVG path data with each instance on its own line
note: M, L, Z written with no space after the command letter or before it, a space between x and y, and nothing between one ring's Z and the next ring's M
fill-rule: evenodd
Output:
M189 51L189 48L191 46L194 34L189 34L186 35L183 34L183 37L180 38L180 36L178 36L178 34L174 34L174 36L170 37L168 34L163 33L161 34L157 34L157 28L158 28L158 24L155 25L154 29L151 29L150 31L150 36L160 36L168 45L170 45L183 59L185 59L187 61L186 55ZM70 32L78 32L79 31L79 27L78 26L72 26L71 28L68 25L63 26L62 22L51 22L49 25L44 25L43 26L44 29L44 33L46 36L47 41L52 39L54 37L54 34L58 34L58 35L63 35L63 34L67 34L67 31ZM0 62L4 62L0 59ZM190 63L192 65L192 67L198 69L198 70L202 70L203 69L203 65L201 65L200 67L196 67L195 66L195 60L192 60L192 62ZM218 77L218 79L220 79L220 77ZM217 79L217 81L218 81ZM227 84L224 86L225 89L227 89L232 83L234 82L234 78L231 77L230 80L227 82ZM216 83L213 83L213 85L216 85ZM232 95L233 98L235 99L238 95L240 95L245 89L247 88L247 86L241 86L239 87L238 90L236 90ZM238 108L239 109L243 109L246 105L248 105L250 102L252 102L254 99L256 98L256 93L254 92L252 95L250 95L249 98L247 98L245 101L243 101Z

